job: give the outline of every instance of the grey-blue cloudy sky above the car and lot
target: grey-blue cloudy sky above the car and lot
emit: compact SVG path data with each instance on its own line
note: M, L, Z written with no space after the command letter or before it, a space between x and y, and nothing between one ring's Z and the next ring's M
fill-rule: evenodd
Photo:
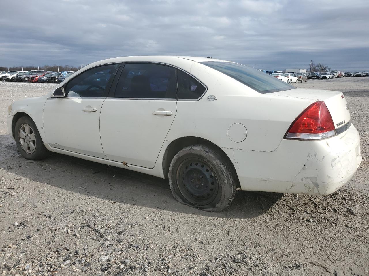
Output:
M181 55L369 70L368 0L18 0L0 26L0 66Z

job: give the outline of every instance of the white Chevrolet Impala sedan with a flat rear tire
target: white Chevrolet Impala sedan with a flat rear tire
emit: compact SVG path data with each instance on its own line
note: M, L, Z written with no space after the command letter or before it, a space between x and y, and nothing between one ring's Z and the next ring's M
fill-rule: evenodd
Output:
M89 64L10 105L7 124L26 159L57 152L168 178L179 202L210 211L227 208L237 187L330 194L361 163L341 92L201 57Z

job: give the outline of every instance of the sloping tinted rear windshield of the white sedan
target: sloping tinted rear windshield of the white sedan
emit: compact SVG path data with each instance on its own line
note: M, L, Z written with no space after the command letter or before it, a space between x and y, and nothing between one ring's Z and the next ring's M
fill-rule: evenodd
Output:
M204 61L200 63L220 71L262 94L295 88L284 81L242 64L224 61Z

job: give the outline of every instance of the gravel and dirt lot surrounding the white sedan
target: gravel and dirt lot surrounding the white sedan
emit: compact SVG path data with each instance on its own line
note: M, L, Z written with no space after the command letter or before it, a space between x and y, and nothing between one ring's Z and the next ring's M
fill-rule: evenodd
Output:
M296 86L345 93L361 134L355 176L329 196L237 191L208 213L156 177L23 159L7 106L55 85L0 82L0 275L369 275L369 78Z

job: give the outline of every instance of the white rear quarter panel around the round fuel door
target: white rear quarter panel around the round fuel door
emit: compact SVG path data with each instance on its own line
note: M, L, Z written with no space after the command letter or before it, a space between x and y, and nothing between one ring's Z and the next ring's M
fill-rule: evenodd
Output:
M177 103L177 114L166 140L195 136L221 148L274 151L292 121L315 100L261 94L211 68L184 68L207 86L198 101ZM214 95L217 100L209 101ZM233 142L228 129L241 123L247 129L242 142Z

